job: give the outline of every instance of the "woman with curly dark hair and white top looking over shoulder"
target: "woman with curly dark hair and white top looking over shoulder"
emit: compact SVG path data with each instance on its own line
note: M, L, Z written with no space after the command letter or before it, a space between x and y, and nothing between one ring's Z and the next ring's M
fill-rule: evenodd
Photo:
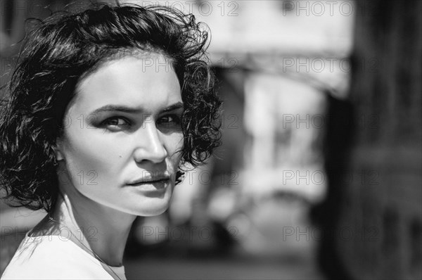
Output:
M163 7L53 15L27 38L1 116L9 203L48 215L2 279L125 279L136 216L219 144L207 33Z

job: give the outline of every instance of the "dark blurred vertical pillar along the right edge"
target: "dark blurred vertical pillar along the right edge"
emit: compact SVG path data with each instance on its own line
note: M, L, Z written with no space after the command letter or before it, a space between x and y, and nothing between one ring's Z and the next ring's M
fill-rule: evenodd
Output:
M314 211L336 233L321 265L331 279L421 279L422 1L355 8L350 100L330 102L328 196Z

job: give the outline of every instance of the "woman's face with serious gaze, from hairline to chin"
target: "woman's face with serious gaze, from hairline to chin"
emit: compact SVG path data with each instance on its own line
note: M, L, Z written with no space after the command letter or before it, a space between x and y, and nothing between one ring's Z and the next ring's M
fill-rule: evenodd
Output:
M164 212L184 143L182 112L179 80L163 56L104 63L79 82L66 110L59 184L133 215Z

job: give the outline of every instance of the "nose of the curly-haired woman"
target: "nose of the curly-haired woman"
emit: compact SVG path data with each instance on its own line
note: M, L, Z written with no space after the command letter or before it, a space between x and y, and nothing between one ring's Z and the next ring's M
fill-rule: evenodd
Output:
M144 122L136 137L136 149L134 151L136 163L143 161L162 163L166 157L167 150L160 139L160 132L155 127L155 123Z

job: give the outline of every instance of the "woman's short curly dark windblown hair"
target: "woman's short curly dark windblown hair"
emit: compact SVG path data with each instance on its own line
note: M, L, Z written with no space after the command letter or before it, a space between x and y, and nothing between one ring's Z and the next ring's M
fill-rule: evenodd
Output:
M78 81L107 59L134 49L171 61L185 109L181 163L203 164L220 144L221 101L205 53L208 34L200 26L193 15L172 8L118 4L60 12L41 21L25 37L0 116L0 186L7 203L52 210L58 195L52 147L63 132Z

